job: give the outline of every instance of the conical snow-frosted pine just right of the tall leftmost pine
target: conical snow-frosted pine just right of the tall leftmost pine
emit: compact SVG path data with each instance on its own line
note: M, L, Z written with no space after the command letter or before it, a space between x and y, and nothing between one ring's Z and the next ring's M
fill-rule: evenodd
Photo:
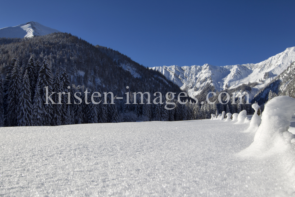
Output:
M19 115L17 117L18 126L32 125L32 102L31 102L31 87L27 70L25 71L22 80L22 90L19 95Z

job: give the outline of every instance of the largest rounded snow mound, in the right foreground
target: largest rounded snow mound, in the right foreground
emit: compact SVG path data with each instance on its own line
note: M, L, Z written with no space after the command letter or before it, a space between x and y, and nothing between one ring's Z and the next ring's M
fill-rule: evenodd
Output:
M274 153L289 155L290 150L294 150L291 143L295 142L294 135L288 131L294 111L294 98L278 96L268 101L253 143L239 154L258 157Z

